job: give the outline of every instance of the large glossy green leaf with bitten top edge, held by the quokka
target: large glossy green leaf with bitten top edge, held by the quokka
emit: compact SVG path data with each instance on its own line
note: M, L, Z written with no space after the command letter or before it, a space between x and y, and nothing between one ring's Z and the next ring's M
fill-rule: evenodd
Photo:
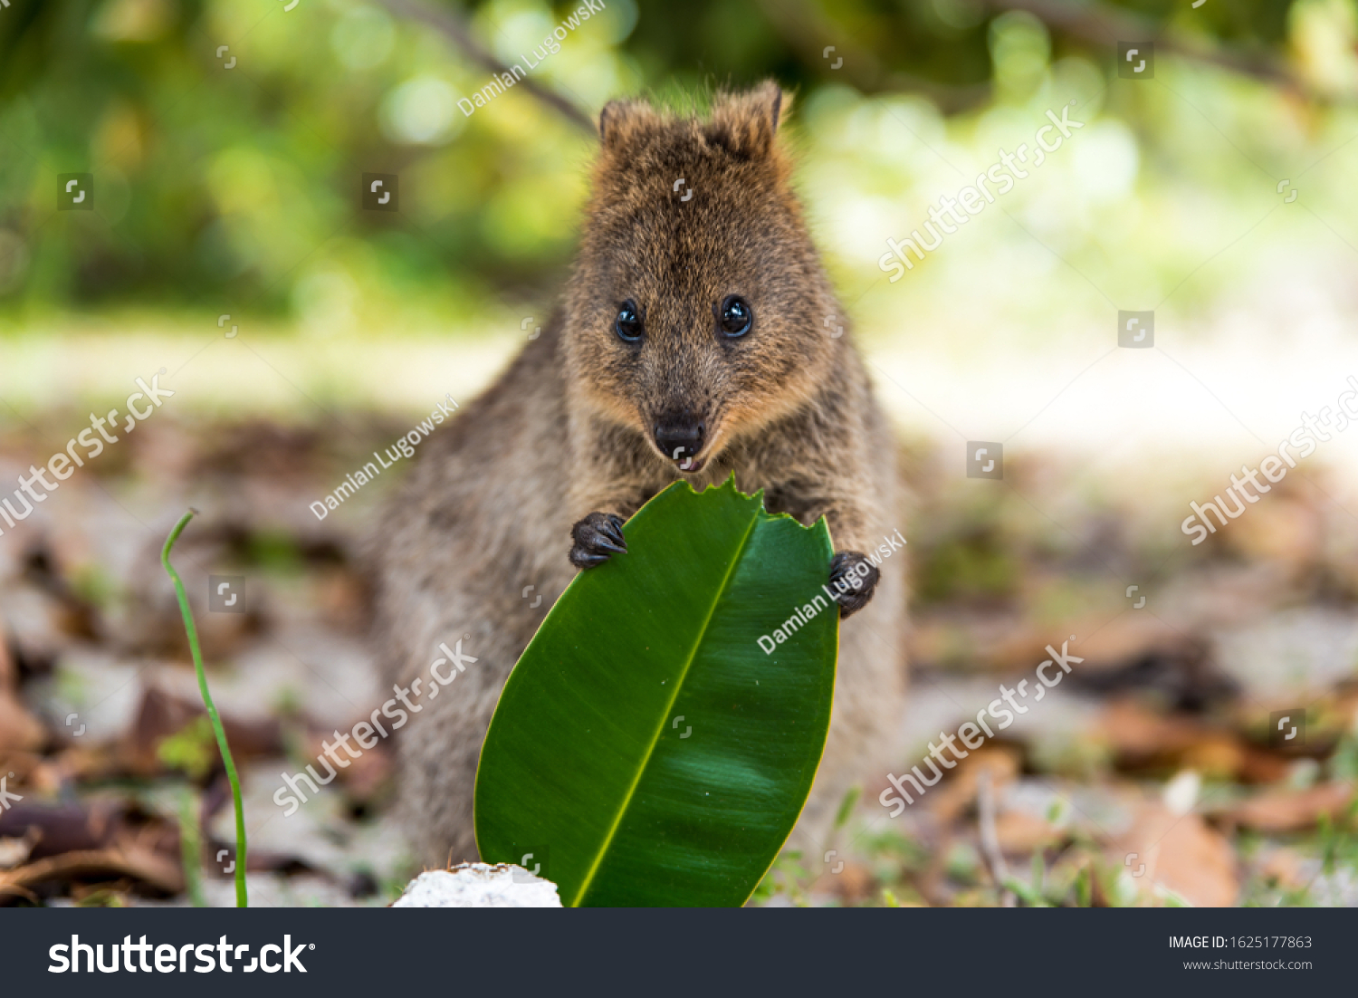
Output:
M824 751L830 531L732 479L676 482L623 534L627 554L572 581L509 673L477 770L477 846L540 864L566 906L743 904ZM759 635L807 604L766 654Z

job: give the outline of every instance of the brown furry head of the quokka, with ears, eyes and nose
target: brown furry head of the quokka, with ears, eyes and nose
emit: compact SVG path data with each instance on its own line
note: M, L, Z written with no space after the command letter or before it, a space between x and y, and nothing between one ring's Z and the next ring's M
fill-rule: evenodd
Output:
M777 137L788 106L765 83L705 119L642 100L599 115L568 390L690 474L805 403L842 349Z

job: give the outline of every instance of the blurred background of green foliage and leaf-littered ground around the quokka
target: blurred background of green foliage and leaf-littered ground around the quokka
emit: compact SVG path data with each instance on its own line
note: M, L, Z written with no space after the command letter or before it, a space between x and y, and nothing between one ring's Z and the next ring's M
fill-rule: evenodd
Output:
M255 903L394 896L413 868L384 745L296 815L272 794L380 702L359 553L403 463L323 520L310 504L546 320L606 100L701 109L769 76L914 492L892 771L1048 642L1084 663L900 817L864 774L758 900L1358 900L1358 432L1205 543L1180 530L1358 375L1358 4L576 10L0 5L0 482L136 379L174 392L0 521L0 777L22 797L0 903L230 903L230 797L158 562L190 504L177 562ZM887 239L1062 109L1062 147L892 281ZM395 210L364 208L364 174L398 178ZM1153 312L1150 349L1119 346L1120 311ZM968 441L1002 445L1001 479L967 477ZM246 612L209 610L212 574Z

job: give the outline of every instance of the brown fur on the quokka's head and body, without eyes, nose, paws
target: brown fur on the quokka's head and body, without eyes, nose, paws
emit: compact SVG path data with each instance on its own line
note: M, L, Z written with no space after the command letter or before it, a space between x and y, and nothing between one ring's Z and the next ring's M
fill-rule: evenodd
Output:
M839 551L904 534L895 445L849 337L830 334L846 323L775 136L788 103L766 83L721 98L706 121L637 100L604 109L561 314L430 439L386 511L375 544L387 680L428 672L437 644L464 634L478 659L401 733L407 827L425 862L475 857L481 741L511 667L576 573L566 554L581 517L626 517L680 477L702 489L735 471L770 511L804 524L824 515ZM732 293L755 325L724 339L717 310ZM640 346L614 331L626 299L644 311ZM655 444L672 411L705 420L697 474ZM842 623L830 740L799 826L808 847L889 745L904 569L903 555L885 559L872 600ZM536 610L526 585L546 595Z

